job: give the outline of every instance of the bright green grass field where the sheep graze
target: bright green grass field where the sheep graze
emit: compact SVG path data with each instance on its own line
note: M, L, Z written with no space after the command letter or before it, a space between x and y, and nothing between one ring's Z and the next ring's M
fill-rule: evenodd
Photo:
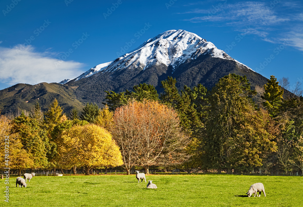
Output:
M158 189L146 189L135 175L37 176L26 188L16 188L11 177L9 203L0 181L0 206L303 206L303 177L147 175L146 180ZM264 184L266 197L246 196L256 182Z

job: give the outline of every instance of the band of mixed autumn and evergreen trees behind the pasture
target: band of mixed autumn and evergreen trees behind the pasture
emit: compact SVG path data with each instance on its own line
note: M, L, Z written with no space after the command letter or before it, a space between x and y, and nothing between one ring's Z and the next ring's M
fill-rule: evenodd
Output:
M229 74L208 90L202 84L178 90L161 81L132 91L105 91L105 107L87 103L65 115L54 100L15 118L0 115L1 149L9 136L9 165L23 169L122 166L174 167L260 174L265 169L303 173L303 99L297 84L274 76L251 89L246 76ZM282 85L282 86L281 86ZM284 89L288 90L284 90ZM80 114L80 116L79 116ZM1 156L4 167L5 158Z

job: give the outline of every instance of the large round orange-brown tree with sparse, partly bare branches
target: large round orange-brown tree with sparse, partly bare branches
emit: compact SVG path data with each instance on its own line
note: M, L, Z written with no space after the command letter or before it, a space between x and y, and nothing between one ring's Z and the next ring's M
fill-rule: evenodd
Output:
M148 172L151 165L179 164L189 138L181 132L178 114L157 101L135 100L118 108L111 130L121 149L124 167L139 164Z

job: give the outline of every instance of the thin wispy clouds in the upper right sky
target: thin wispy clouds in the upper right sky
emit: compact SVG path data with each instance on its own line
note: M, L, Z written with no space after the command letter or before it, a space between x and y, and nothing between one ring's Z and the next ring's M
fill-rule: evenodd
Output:
M198 7L198 5L196 6ZM180 14L194 14L184 19L211 26L230 26L244 34L258 35L264 41L287 44L303 51L303 5L297 1L238 2L195 8ZM249 29L247 26L249 25ZM288 32L283 32L288 31Z

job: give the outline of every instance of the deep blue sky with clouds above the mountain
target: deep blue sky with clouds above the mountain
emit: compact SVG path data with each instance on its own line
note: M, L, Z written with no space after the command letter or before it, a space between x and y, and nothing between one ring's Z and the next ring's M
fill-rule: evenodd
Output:
M171 29L267 78L303 81L301 1L2 0L0 10L0 89L75 78Z

